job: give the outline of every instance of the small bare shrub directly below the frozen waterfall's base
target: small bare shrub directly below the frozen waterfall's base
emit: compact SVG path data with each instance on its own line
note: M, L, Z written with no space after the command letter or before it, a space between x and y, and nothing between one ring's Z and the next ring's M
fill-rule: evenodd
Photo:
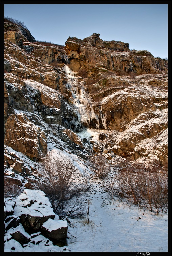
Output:
M93 168L92 172L94 172L95 175L101 179L104 179L110 171L110 166L106 162L106 158L101 155L91 156L90 165Z

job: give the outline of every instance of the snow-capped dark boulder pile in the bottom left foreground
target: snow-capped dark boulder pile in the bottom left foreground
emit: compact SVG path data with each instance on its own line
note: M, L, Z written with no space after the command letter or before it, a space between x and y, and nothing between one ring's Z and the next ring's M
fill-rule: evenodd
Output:
M59 220L49 199L40 190L25 189L15 200L6 198L4 213L5 231L8 231L5 242L13 238L24 247L28 242L44 241L48 245L49 240L57 242L67 238L67 221Z

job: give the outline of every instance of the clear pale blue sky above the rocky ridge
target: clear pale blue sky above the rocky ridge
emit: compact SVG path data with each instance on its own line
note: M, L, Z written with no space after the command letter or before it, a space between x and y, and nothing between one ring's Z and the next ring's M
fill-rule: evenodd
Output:
M168 57L168 4L4 4L4 16L24 22L36 40L65 45L69 36L99 33Z

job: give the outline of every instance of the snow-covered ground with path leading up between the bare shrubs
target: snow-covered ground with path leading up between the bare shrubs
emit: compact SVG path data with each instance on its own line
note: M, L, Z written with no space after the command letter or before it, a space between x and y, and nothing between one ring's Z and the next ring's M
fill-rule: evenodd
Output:
M73 159L78 173L91 174L88 165L79 156L60 151L53 148L52 145L48 145L48 147L54 155L60 153ZM16 154L22 158L20 152L16 152ZM82 176L80 175L77 182L81 181ZM22 247L14 239L6 241L4 251L168 252L168 213L156 215L134 205L121 203L117 199L112 205L104 190L105 181L98 179L90 179L90 181L92 190L87 197L87 200L90 201L89 225L87 211L82 219L70 219L66 246L55 246L51 241L47 245L47 239L43 239L42 235L39 235L35 239L41 240L42 238L42 242L39 244L30 242L26 247Z

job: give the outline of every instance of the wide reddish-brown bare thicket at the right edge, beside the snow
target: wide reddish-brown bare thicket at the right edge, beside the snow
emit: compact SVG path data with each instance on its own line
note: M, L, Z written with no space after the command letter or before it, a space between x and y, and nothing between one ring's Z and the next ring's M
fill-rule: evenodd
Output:
M168 173L163 167L144 169L142 165L129 165L114 179L120 200L132 202L135 205L149 209L158 214L168 209ZM155 171L156 170L156 171ZM114 186L110 187L108 194L113 193Z

